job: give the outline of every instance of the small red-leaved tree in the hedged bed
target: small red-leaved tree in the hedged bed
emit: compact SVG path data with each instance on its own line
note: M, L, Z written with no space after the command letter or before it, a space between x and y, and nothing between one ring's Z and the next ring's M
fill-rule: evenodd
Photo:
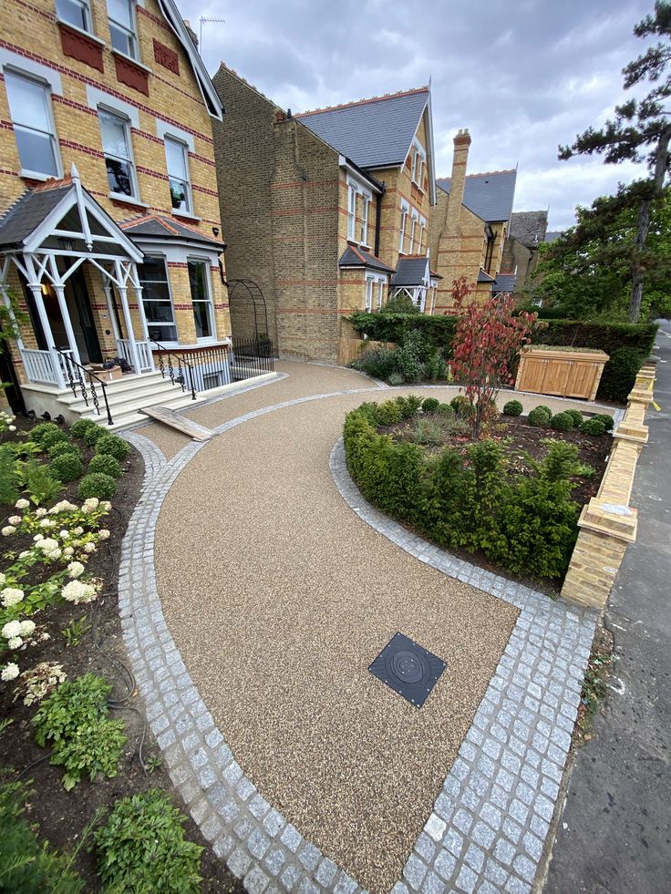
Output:
M492 414L501 385L512 385L511 366L522 344L531 341L535 313L513 316L515 301L511 295L496 295L486 302L463 303L475 291L465 276L452 283L452 298L459 323L452 342L450 365L459 385L466 389L470 402L473 437Z

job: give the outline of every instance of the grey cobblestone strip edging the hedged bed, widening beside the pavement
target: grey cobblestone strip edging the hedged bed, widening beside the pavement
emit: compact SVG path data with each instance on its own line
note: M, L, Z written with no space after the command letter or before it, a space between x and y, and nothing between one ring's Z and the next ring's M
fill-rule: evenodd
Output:
M374 509L350 478L342 439L331 471L366 524L520 615L393 894L529 892L571 745L596 614L456 559Z

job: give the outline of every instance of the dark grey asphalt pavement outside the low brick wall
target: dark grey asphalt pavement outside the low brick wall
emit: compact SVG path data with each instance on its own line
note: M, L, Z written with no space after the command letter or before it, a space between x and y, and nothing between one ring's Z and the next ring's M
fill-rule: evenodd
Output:
M577 753L544 894L671 889L671 324L661 326L626 551L604 623L611 691Z

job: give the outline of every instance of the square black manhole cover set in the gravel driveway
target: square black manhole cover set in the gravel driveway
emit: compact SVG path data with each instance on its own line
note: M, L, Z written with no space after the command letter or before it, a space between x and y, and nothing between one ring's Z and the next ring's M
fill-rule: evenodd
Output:
M368 670L395 693L420 708L446 664L403 633L396 633Z

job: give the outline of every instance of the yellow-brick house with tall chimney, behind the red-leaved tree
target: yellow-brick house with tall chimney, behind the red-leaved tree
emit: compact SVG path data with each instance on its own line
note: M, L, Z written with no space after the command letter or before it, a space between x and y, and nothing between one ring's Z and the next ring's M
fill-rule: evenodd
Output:
M517 170L468 174L470 141L469 131L459 130L451 176L437 180L428 239L431 264L442 277L434 313L453 310L452 283L461 276L483 297L508 292L512 285L511 272L505 279L499 276Z

